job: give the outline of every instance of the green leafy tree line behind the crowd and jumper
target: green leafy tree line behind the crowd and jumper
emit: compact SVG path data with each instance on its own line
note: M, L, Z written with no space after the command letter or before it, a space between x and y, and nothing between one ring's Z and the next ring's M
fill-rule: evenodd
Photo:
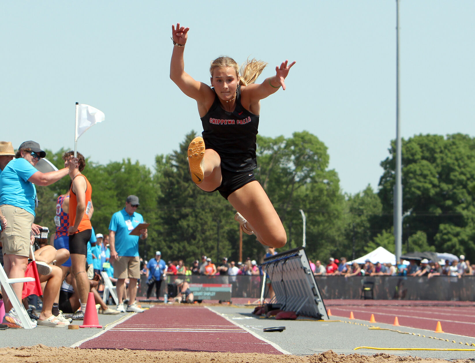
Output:
M108 233L111 216L135 194L137 210L151 223L140 255L161 250L165 260L187 264L206 255L239 258L239 226L232 206L218 193L201 191L190 181L186 149L191 131L167 155L157 155L154 170L130 159L107 165L86 160L84 174L93 187L96 233ZM47 151L47 159L63 167L62 154ZM381 162L377 191L371 186L354 195L340 189L338 173L329 169L327 148L306 131L292 137L257 137L257 180L273 202L287 232L286 248L302 245L306 216L306 251L323 263L333 256L358 258L378 246L394 252L393 188L395 143ZM437 251L475 258L475 140L467 135L415 135L402 141L403 253ZM56 199L69 178L38 187L36 223L54 231ZM242 237L243 258L263 258L254 236Z

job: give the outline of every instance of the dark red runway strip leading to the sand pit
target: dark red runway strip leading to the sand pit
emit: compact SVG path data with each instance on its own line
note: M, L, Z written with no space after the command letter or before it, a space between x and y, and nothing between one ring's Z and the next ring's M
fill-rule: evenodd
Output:
M201 306L153 306L80 348L282 354Z

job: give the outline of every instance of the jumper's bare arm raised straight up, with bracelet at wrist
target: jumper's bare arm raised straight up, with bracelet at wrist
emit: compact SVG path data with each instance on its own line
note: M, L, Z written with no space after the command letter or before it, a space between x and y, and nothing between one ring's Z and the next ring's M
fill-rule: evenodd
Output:
M195 99L199 104L204 103L206 96L212 96L209 86L193 79L185 72L185 62L183 60L183 51L188 39L188 30L190 28L171 26L171 38L174 42L173 52L171 53L170 78L187 96ZM208 95L209 94L209 95Z

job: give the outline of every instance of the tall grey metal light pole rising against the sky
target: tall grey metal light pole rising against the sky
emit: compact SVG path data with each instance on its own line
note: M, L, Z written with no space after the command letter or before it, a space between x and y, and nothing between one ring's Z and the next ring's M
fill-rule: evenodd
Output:
M401 125L399 122L399 103L399 0L396 0L396 185L393 198L396 262L402 254Z

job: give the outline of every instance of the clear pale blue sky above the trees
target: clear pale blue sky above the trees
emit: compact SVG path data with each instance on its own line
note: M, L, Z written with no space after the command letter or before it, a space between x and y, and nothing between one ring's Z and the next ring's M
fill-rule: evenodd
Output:
M401 131L475 135L475 1L400 2ZM307 130L342 191L377 188L395 138L396 1L13 1L0 3L1 140L74 146L75 102L105 113L78 150L100 163L177 150L201 132L194 100L169 78L171 24L190 27L185 70L265 60L261 81L296 60L262 101L259 133Z

